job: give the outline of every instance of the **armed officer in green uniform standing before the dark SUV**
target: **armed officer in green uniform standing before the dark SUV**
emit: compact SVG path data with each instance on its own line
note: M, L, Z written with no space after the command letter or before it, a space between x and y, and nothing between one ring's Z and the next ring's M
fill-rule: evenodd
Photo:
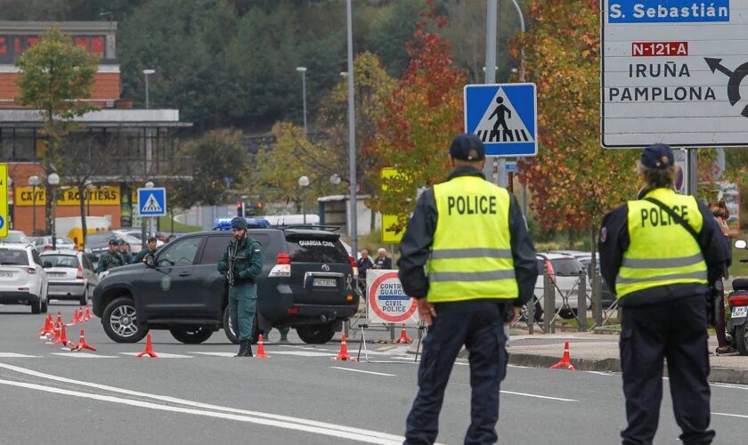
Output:
M256 277L263 270L263 246L247 234L247 220L232 219L232 242L218 260L229 286L229 316L239 337L236 357L252 357L252 326L257 310Z

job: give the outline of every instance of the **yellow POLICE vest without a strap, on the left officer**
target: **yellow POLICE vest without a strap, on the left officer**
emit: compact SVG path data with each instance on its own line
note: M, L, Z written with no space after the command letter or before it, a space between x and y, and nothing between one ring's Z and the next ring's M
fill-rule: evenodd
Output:
M516 298L509 194L477 176L434 187L438 219L428 263L429 303Z

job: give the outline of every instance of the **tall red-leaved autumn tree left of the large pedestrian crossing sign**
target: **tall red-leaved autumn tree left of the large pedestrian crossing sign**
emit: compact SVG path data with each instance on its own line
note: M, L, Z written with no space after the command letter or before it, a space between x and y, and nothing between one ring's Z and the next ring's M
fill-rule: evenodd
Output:
M462 88L464 73L452 62L449 44L438 34L446 20L433 0L421 15L413 40L408 43L411 61L379 121L377 138L364 153L379 159L379 168L365 172L375 190L386 186L370 204L383 214L401 215L405 226L419 187L443 182L450 166L447 150L463 131ZM400 175L383 184L381 167L395 167Z

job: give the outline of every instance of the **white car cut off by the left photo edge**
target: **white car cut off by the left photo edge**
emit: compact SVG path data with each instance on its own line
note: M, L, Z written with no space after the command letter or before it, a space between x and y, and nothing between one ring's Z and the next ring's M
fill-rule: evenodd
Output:
M46 272L33 247L0 243L0 303L27 304L31 313L47 312Z

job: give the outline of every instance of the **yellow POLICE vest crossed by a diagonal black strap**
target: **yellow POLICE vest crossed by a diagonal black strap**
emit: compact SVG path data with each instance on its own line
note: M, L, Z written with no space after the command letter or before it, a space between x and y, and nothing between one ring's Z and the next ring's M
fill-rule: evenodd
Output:
M696 233L702 230L703 217L694 197L655 189L646 198L670 207ZM618 298L650 287L707 284L706 263L698 242L659 206L645 200L629 201L629 238L615 280Z

